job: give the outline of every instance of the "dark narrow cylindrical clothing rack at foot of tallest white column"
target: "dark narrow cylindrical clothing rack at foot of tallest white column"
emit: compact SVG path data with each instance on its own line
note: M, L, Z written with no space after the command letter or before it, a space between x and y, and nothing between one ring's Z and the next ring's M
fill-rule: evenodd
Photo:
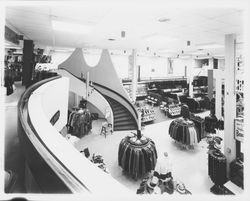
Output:
M208 153L208 175L216 186L227 182L226 157L220 150L211 150Z

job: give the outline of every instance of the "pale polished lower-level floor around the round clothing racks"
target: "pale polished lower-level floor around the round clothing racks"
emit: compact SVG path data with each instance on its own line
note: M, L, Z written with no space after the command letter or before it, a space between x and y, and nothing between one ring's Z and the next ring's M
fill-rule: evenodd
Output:
M200 114L203 117L206 115L208 115L208 112ZM142 133L155 142L158 155L165 151L169 153L174 180L183 182L192 194L211 194L210 188L213 183L208 176L207 142L203 139L194 149L182 149L168 135L171 121L172 119L166 117L163 122L146 125ZM118 166L119 143L130 131L116 131L105 138L100 135L100 120L93 122L93 124L95 126L92 132L82 137L75 147L79 151L89 148L91 154L102 155L110 174L120 183L136 192L141 179L136 181L124 175L121 167ZM219 132L218 135L223 138L223 132Z

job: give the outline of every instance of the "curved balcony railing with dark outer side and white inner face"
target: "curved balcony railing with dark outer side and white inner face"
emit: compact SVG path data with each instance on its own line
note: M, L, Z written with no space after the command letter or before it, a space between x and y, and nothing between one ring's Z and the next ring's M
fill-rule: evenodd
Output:
M44 114L44 94L50 90L56 97L57 92L53 89L57 88L54 86L60 88L64 81L67 82L67 78L61 76L42 80L29 87L18 103L18 135L26 168L36 184L35 192L111 195L115 191L130 194L110 174L85 158ZM62 89L62 93L68 94L68 91ZM29 181L31 178L27 176Z

